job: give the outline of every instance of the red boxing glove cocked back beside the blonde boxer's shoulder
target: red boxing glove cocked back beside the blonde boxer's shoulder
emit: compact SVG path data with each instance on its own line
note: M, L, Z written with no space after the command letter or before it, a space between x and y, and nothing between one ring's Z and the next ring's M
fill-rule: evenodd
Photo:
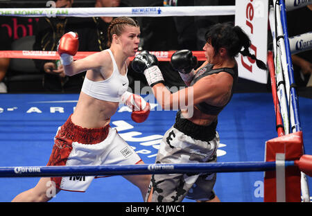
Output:
M73 32L63 35L58 42L58 55L63 65L68 65L73 62L73 55L78 51L78 35Z

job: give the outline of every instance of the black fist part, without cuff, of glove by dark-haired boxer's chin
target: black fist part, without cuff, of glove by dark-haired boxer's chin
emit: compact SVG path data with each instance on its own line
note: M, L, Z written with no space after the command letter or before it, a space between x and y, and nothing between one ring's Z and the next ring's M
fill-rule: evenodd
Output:
M189 50L176 51L171 56L173 69L180 73L190 73L196 67L197 57Z

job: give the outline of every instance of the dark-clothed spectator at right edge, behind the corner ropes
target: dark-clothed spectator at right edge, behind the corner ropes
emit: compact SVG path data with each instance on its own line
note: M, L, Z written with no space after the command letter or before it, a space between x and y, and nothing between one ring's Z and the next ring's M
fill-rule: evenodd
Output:
M288 36L312 31L312 5L287 12ZM304 24L301 24L304 21ZM312 50L292 55L294 79L297 87L312 87Z

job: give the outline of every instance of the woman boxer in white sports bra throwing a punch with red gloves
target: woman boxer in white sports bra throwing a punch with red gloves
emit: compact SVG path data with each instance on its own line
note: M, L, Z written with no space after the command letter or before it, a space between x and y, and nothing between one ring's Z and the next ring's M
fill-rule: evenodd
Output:
M129 93L127 77L129 57L139 47L140 28L130 17L117 17L107 28L110 48L73 61L78 50L78 35L66 33L58 44L58 53L66 75L87 71L80 96L67 121L58 128L47 165L135 165L143 164L140 156L110 127L120 102L132 109L131 118L144 122L150 105L141 96ZM125 175L146 197L150 175ZM55 185L60 190L85 192L95 177L72 181L69 177L41 178L35 188L17 195L13 201L48 201L46 191Z

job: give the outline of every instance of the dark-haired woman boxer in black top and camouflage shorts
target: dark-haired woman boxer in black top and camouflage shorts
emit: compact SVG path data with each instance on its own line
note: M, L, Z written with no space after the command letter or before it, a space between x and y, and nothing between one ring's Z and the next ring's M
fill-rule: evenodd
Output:
M216 24L209 28L205 39L202 49L206 61L196 71L193 69L197 60L191 51L177 51L171 57L173 68L189 85L174 93L162 83L162 73L149 53L144 52L132 62L132 68L146 76L159 105L180 109L174 125L162 138L155 163L216 162L220 143L216 131L218 114L231 100L238 80L235 56L248 55L256 60L259 68L266 69L266 65L249 52L250 39L239 26ZM220 201L214 192L215 182L216 173L153 174L146 201L182 201L184 197Z

